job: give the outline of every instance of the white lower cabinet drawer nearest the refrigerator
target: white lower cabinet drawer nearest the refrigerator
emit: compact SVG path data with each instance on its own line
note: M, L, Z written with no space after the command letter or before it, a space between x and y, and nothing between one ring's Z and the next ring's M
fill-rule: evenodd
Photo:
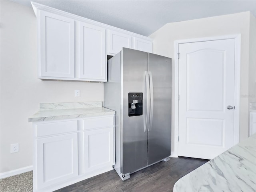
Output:
M114 125L113 116L84 119L84 130L109 127Z

